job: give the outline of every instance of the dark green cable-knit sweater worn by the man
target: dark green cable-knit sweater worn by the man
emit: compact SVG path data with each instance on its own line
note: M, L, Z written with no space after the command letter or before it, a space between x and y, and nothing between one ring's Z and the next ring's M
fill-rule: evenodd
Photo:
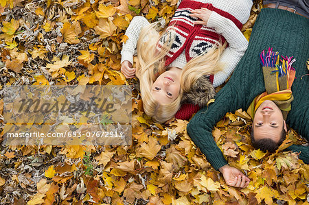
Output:
M218 92L209 108L201 109L187 125L187 132L205 154L214 169L227 165L211 134L212 128L227 113L239 108L247 110L254 97L265 91L260 65L260 53L268 47L282 56L294 56L296 79L292 86L294 101L286 123L309 140L309 20L286 10L264 8L253 27L249 47L238 63L229 82ZM288 148L301 152L299 158L309 163L309 147L292 145Z

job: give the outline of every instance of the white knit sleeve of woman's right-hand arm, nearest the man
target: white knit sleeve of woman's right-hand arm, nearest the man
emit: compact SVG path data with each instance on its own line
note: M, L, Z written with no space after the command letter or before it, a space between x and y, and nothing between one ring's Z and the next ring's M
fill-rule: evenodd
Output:
M247 50L248 41L233 21L224 16L220 16L216 12L211 12L207 27L214 27L216 32L222 34L227 40L227 43L229 43L229 46L223 51L220 57L220 62L223 63L224 69L214 75L213 85L216 87L220 86L231 75L240 58L244 56L244 52Z

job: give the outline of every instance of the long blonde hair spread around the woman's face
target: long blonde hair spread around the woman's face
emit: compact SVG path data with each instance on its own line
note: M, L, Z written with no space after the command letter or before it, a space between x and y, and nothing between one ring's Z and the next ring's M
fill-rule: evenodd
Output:
M187 62L181 73L181 91L179 96L170 104L159 104L151 95L152 84L157 79L155 74L159 73L161 75L166 70L165 56L174 42L175 32L173 27L169 27L160 36L156 29L157 24L152 23L141 29L139 40L137 41L138 62L136 75L139 78L144 111L148 116L152 117L153 121L164 123L174 117L174 114L180 108L183 92L190 91L190 87L199 77L222 70L218 60L227 44L217 45L218 47L214 46L207 53L196 56ZM165 43L158 51L156 49L157 43L163 37L165 38Z

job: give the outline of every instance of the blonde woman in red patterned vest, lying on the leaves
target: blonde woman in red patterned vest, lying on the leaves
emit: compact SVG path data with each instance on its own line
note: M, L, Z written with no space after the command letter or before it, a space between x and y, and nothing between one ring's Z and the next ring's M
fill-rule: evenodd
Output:
M210 93L225 82L247 49L240 28L251 6L251 0L183 0L162 35L156 23L133 18L122 47L121 71L127 78L139 78L146 114L158 123L168 121L198 79L208 75Z

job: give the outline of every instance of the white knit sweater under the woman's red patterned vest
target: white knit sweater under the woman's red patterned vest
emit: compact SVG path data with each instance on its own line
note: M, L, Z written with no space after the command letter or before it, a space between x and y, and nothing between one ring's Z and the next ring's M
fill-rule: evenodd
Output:
M196 1L196 0L195 0ZM252 7L251 0L197 0L202 3L212 3L212 5L220 10L224 10L229 14L233 15L241 23L246 23L250 16L250 10ZM122 46L122 61L128 60L133 64L133 55L135 54L135 49L137 47L137 40L139 38L139 33L141 28L149 25L149 22L143 16L135 16L131 21L130 25L126 29L126 36L128 40ZM213 86L220 86L227 77L231 75L233 69L235 69L240 58L244 55L248 47L248 41L240 29L236 27L233 21L220 16L216 12L211 12L211 16L208 19L207 27L212 27L225 37L229 46L223 51L220 56L220 62L224 64L223 71L220 71L214 75ZM185 67L187 60L185 58L185 51L174 60L169 67L178 67L182 69Z

